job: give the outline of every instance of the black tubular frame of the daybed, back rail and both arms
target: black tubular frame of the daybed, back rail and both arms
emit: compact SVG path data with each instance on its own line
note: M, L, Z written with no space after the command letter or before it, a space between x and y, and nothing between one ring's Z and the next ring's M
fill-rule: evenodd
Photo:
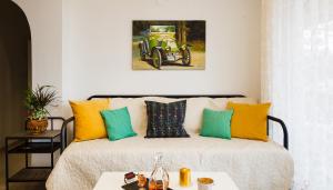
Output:
M95 96L91 96L88 98L88 100L92 100L92 99L104 99L104 98L143 98L143 97L164 97L164 98L175 98L175 99L184 99L184 98L200 98L200 97L204 97L204 98L245 98L245 96L242 94L95 94ZM289 149L289 133L287 133L287 129L285 123L283 122L282 119L272 117L272 116L268 116L268 136L269 133L269 127L270 127L270 122L269 121L273 121L273 122L278 122L283 131L283 147L285 149ZM63 122L63 126L61 128L61 133L62 133L62 139L63 139L63 148L64 149L67 147L67 128L69 126L69 123L73 122L74 126L74 117L71 117L69 119L67 119ZM73 136L74 134L74 130L73 130Z

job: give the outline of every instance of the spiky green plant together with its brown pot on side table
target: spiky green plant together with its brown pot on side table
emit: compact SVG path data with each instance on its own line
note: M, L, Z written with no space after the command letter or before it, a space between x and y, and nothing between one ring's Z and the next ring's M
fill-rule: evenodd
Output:
M52 86L38 86L34 90L28 89L24 104L28 109L27 130L33 134L42 133L48 128L48 106L56 107L57 91Z

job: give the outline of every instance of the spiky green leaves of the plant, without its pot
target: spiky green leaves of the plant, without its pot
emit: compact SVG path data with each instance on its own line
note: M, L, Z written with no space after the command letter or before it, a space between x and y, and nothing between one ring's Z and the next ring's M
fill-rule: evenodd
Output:
M41 120L47 118L49 114L47 106L57 107L57 91L52 86L37 86L34 90L28 89L24 100L29 113L28 119Z

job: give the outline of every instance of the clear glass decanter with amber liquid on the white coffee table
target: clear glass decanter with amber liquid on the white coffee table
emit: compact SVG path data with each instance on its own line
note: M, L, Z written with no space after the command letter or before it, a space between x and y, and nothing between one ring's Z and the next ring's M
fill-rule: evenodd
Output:
M155 154L155 164L149 180L149 190L167 190L169 187L169 174L163 168L163 154Z

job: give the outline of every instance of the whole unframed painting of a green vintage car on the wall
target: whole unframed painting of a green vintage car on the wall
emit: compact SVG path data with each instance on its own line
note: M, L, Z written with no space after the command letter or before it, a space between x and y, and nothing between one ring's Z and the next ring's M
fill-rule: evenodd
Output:
M204 20L134 20L133 70L204 70Z

